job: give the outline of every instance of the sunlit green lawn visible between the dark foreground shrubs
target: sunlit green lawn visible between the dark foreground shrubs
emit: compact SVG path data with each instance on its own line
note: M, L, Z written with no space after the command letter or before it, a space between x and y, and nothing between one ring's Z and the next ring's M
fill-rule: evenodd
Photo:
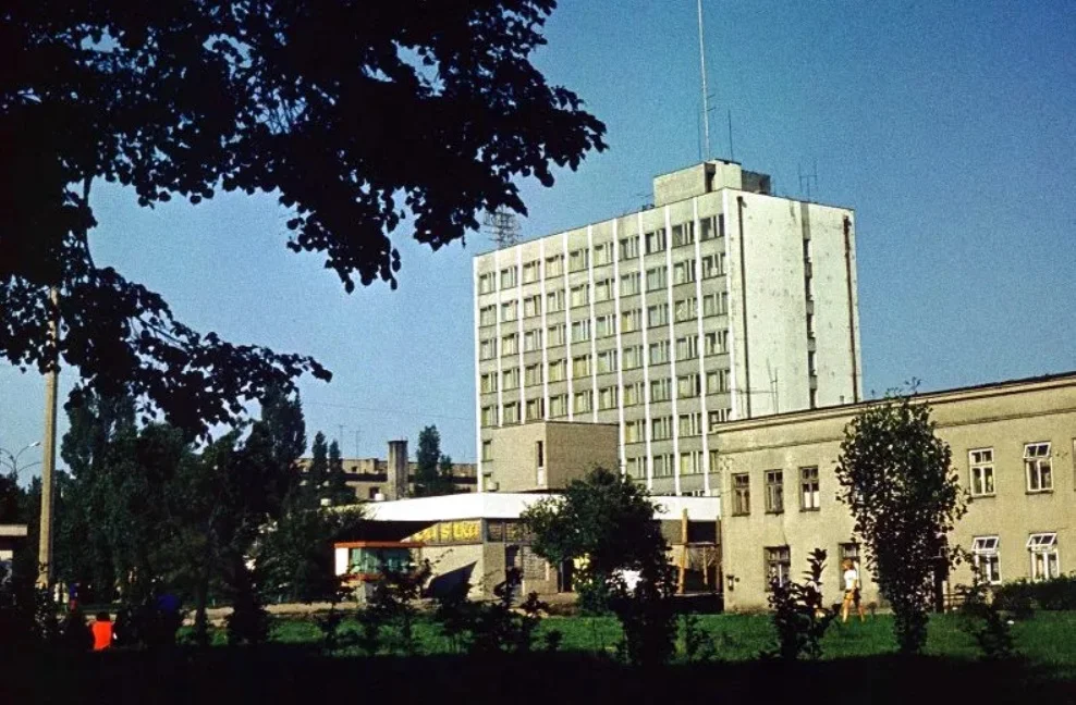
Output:
M768 615L700 615L699 628L710 636L714 655L724 661L756 659L759 652L774 643L772 622ZM354 620L345 620L343 629L357 629ZM543 619L538 638L550 630L563 635L561 651L611 652L622 638L614 617L549 617ZM450 641L428 618L415 624L419 652L423 654L452 653ZM1076 613L1040 611L1035 618L1017 622L1013 627L1016 650L1030 661L1076 678ZM218 630L218 643L223 643L223 631ZM310 644L321 638L313 619L278 620L273 627L273 641L282 644ZM681 636L682 638L682 636ZM391 641L391 636L390 636ZM539 642L540 643L540 642ZM682 644L681 644L681 650ZM896 652L893 636L893 618L890 615L868 617L866 622L852 619L847 623L834 621L822 640L823 659L841 659L881 656ZM961 629L957 615L933 615L930 619L926 653L958 659L975 659L979 651L975 640Z

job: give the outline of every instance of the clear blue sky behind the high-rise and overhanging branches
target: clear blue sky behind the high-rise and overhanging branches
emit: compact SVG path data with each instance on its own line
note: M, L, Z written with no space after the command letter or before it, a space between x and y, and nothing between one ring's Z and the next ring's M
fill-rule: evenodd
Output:
M551 189L522 183L526 237L635 210L653 175L698 161L695 8L562 0L536 61L606 122L610 149ZM729 157L731 110L735 159L780 195L800 196L798 168L817 163L815 199L856 209L867 391L1076 369L1076 3L706 0L705 23L713 156ZM149 210L98 185L94 206L99 264L196 330L333 371L301 383L311 436L342 424L346 455L383 456L436 423L444 452L474 460L485 235L433 253L401 233L400 288L349 296L317 256L284 248L270 197ZM39 378L0 367L0 447L40 437L42 397Z

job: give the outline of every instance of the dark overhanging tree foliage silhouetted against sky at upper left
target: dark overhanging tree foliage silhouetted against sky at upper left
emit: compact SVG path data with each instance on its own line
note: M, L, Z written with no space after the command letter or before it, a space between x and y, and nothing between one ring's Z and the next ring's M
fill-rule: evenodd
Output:
M438 249L478 210L526 209L603 149L604 126L530 63L553 0L17 2L0 10L0 354L59 357L91 388L129 392L188 433L310 358L233 345L175 320L156 293L97 267L95 182L142 206L218 190L289 209L288 247L322 253L350 292L395 285L390 236ZM403 232L401 232L403 231ZM59 290L59 306L48 289Z

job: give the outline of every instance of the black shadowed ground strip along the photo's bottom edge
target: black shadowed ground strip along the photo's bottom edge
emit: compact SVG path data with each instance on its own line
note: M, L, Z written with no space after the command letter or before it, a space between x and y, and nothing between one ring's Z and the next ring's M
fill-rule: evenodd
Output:
M3 665L0 703L1076 702L1076 682L1034 666L939 657L644 671L582 654L341 658L272 645L20 660Z

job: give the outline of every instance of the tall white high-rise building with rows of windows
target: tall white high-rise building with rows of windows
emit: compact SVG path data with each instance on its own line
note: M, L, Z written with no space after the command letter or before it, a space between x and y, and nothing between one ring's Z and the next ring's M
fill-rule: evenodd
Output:
M621 471L710 495L721 423L859 400L852 210L707 161L652 208L474 260L479 490L489 431L620 429Z

